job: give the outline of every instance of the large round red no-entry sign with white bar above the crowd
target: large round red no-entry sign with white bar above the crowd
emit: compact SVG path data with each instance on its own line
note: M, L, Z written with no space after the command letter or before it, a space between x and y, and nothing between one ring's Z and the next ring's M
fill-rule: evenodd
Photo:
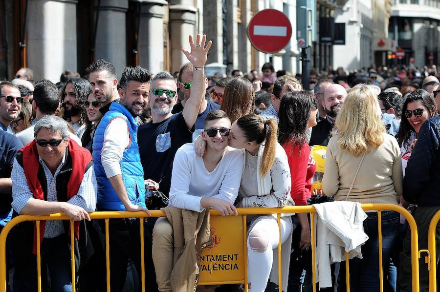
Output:
M247 36L257 50L276 53L286 47L290 41L292 25L283 12L264 9L249 22Z

